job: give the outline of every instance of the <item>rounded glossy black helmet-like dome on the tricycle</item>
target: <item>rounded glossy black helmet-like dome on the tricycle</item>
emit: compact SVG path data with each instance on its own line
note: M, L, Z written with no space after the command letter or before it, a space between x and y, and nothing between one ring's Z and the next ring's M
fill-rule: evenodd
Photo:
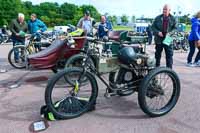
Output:
M136 53L132 47L123 47L118 52L118 58L122 63L131 64L136 59Z

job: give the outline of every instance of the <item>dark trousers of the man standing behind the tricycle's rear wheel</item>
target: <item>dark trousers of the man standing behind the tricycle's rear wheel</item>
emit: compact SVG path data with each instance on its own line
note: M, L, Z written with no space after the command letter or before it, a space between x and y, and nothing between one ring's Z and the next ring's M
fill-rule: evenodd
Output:
M165 50L165 55L166 55L166 66L169 68L172 68L173 47L172 47L172 45L167 46L165 44L156 44L156 52L155 52L156 66L157 67L160 66L160 59L161 59L163 49Z

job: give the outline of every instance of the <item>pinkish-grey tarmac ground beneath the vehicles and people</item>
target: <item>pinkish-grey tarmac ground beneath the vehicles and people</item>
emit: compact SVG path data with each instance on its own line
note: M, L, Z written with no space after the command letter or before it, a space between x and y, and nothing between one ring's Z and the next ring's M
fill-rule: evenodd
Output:
M51 70L18 70L7 61L11 45L0 45L0 133L29 133L31 123L41 120L47 80ZM154 52L154 46L148 46ZM150 118L140 109L137 93L128 97L103 95L98 82L96 110L70 120L49 121L44 133L199 133L200 67L187 67L186 52L175 51L174 70L181 80L181 94L175 108L165 116ZM164 54L162 64L165 65ZM106 77L106 75L105 75ZM12 85L17 88L10 88Z

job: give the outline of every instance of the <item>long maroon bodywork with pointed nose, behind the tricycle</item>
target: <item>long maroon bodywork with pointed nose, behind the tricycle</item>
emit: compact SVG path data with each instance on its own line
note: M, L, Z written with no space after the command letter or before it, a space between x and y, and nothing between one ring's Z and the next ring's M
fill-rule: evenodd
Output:
M73 39L75 40L75 48L70 48L66 40L55 40L48 48L29 55L29 65L37 69L49 69L55 67L59 60L67 59L79 53L84 47L86 37L75 37Z

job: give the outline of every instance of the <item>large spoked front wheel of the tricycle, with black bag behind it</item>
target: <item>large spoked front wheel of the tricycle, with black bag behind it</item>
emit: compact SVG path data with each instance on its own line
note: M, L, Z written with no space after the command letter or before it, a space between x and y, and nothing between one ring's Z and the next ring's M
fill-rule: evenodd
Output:
M66 75L73 75L75 84L65 80ZM76 75L76 76L75 76ZM87 78L88 84L82 85L81 78ZM75 118L90 110L98 95L97 82L93 75L81 68L67 68L58 72L48 82L45 90L45 102L55 117L60 119Z

